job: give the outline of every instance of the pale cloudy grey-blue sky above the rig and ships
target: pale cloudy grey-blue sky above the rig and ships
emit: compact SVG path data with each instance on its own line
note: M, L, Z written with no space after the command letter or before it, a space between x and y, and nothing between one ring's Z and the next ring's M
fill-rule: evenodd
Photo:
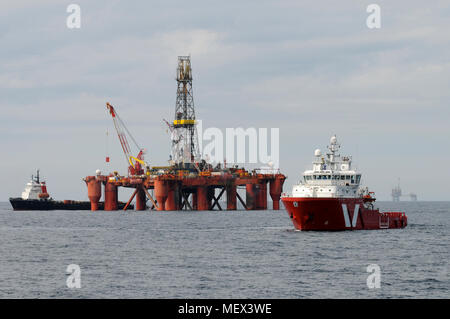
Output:
M399 179L404 194L450 200L449 17L444 0L2 0L0 201L38 168L55 199L87 200L96 169L125 174L106 102L167 165L179 55L203 127L279 128L285 191L336 134L380 200Z

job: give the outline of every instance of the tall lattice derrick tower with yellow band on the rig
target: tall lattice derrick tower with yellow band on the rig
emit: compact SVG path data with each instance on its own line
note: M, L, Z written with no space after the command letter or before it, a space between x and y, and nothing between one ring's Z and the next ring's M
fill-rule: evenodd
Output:
M172 160L175 165L193 168L200 159L194 97L192 95L192 68L189 56L178 57L177 101L172 127Z

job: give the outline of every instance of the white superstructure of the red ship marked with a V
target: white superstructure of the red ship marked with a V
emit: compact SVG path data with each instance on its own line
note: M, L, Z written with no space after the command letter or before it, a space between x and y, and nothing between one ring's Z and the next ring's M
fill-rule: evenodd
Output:
M347 197L360 196L361 173L352 169L351 156L339 155L336 135L330 139L329 152L314 152L313 169L306 170L299 184L294 185L292 197Z

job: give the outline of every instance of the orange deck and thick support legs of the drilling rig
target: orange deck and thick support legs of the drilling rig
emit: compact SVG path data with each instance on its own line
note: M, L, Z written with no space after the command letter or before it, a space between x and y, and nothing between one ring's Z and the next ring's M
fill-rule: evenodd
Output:
M134 188L124 210L136 198L136 210L223 210L219 200L226 192L227 210L237 209L237 200L246 210L267 209L267 188L273 209L280 208L280 196L286 176L280 173L260 174L245 170L234 172L202 172L201 175L178 171L176 174L120 177L97 175L84 178L88 188L91 210L98 209L104 185L104 210L118 209L118 188ZM194 175L194 176L192 176ZM237 188L245 187L245 202ZM216 196L216 189L219 190ZM153 195L151 192L153 192ZM149 207L147 201L150 200Z

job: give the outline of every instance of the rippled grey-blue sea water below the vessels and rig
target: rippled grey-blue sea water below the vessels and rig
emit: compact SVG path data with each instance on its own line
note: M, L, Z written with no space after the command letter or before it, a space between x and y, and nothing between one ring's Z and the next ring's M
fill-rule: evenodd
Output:
M298 232L285 211L13 212L0 203L2 298L449 298L450 202L403 230ZM369 289L369 264L381 288ZM66 286L69 264L80 289Z

